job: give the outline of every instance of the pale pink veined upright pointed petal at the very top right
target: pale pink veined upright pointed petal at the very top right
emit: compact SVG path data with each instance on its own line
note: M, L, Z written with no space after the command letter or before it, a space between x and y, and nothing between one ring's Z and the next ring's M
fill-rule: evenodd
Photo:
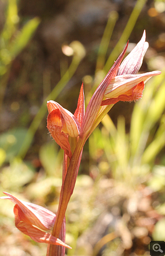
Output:
M143 57L148 49L148 42L146 40L146 32L144 30L140 42L134 47L134 49L127 55L124 61L121 63L117 76L124 74L137 74L140 70L143 62Z

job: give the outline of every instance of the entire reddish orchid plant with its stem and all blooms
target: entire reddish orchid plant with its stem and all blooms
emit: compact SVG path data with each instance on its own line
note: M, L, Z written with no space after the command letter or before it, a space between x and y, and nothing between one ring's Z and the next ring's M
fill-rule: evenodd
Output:
M74 190L83 146L91 132L118 101L135 101L142 97L148 79L160 71L137 74L148 49L145 31L140 42L124 59L128 43L106 77L94 92L85 111L83 83L74 115L49 100L47 128L52 138L64 150L62 187L58 212L52 212L31 203L25 203L5 192L4 199L16 203L14 207L16 227L38 242L49 243L47 256L65 256L65 212ZM35 225L35 227L33 226ZM52 230L52 234L42 230ZM61 240L59 239L61 238ZM63 249L61 249L63 248Z

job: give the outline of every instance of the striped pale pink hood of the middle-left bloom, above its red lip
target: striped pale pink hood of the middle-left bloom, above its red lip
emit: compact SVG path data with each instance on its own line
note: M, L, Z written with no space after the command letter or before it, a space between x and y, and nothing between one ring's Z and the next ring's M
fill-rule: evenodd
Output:
M47 102L47 107L48 107L49 114L53 110L59 109L60 114L62 115L64 120L64 122L62 122L61 120L61 124L62 124L62 126L60 125L60 127L62 127L61 132L65 132L71 137L79 136L80 124L71 112L69 112L67 109L63 108L60 104L58 104L53 100L49 100ZM60 123L59 115L58 115L58 121L56 121L56 116L54 115L54 125L57 125L56 123Z

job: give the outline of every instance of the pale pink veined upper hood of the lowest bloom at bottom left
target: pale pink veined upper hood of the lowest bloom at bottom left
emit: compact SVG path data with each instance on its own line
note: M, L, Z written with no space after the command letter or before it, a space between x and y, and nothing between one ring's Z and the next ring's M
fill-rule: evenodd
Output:
M19 200L14 195L7 192L3 193L8 196L1 196L0 198L9 199L13 203L17 204L21 211L25 214L28 223L39 227L41 230L52 230L56 219L55 213L50 212L40 205Z

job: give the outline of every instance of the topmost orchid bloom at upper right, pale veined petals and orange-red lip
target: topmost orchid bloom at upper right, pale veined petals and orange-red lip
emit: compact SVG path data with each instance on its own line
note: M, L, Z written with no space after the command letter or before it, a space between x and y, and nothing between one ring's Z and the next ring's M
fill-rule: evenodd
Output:
M160 71L137 74L148 49L148 42L145 40L146 33L144 31L140 42L120 65L117 76L108 84L104 94L107 99L102 101L102 106L115 104L118 101L138 100L142 97L144 84L148 79L161 74Z

